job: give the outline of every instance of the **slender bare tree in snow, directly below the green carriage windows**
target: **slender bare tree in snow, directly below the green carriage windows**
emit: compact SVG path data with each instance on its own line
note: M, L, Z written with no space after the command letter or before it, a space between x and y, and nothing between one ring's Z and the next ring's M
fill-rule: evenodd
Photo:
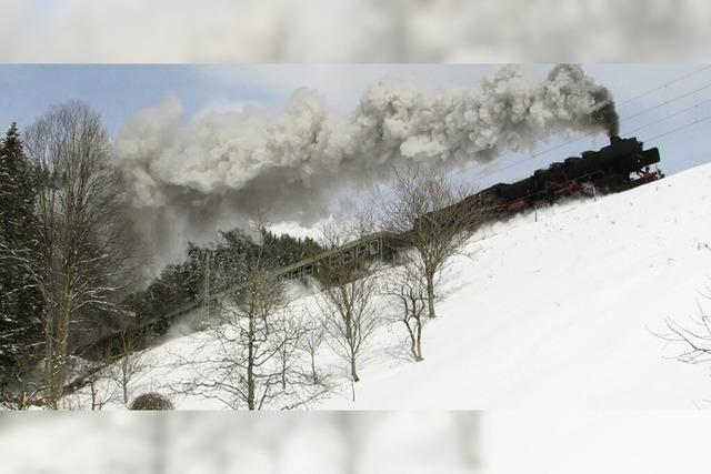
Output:
M356 233L353 229L357 229ZM327 248L339 252L339 248L358 239L363 228L348 224L329 224L322 229ZM336 256L339 256L338 254ZM341 258L329 259L319 269L322 290L317 301L327 331L329 344L348 363L351 383L358 382L358 360L367 346L368 339L378 326L373 299L378 291L375 279L377 263L364 259L346 261ZM353 387L353 400L356 391Z

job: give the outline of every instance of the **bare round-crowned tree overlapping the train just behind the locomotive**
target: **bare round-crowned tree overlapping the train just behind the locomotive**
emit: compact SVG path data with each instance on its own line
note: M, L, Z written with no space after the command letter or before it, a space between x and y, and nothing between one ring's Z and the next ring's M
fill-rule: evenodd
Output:
M402 258L422 272L428 314L434 317L437 274L462 252L494 206L444 173L417 169L397 173L382 194L377 205L379 224L402 250L414 251L403 252Z

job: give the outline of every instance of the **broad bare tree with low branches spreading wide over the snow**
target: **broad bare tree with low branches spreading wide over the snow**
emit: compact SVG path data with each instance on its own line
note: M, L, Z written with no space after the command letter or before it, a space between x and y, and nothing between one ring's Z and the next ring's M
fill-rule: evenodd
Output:
M197 364L197 376L181 392L217 399L234 410L293 409L313 402L324 386L303 376L298 347L306 326L290 311L284 283L273 278L263 246L240 259L240 282L226 293L219 322L206 341L206 349L219 350L189 362ZM244 269L248 276L242 282Z

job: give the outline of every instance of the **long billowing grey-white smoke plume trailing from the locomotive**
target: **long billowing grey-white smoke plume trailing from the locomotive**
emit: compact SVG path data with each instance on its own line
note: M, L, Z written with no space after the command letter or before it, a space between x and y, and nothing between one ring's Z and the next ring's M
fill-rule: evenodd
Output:
M174 238L176 222L190 239L257 210L309 224L344 190L395 169L485 163L555 133L618 133L610 91L568 64L544 80L504 67L468 90L429 95L413 79L390 77L348 117L307 89L280 113L252 107L180 125L181 112L168 98L138 112L117 141L134 204L154 223L159 245Z

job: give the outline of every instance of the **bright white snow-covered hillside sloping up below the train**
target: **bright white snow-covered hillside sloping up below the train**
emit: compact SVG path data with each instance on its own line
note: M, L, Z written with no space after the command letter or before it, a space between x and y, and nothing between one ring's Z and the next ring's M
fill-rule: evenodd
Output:
M693 324L698 302L711 312L700 296L711 249L699 245L711 243L710 184L704 165L482 230L470 243L474 258L449 269L439 317L424 330L424 361L395 356L401 329L383 327L360 371L357 401L343 384L318 407L707 406L709 367L678 362L682 347L654 333L667 319ZM142 374L133 391L170 385L182 374L176 355L189 356L201 339L149 351L164 366Z

